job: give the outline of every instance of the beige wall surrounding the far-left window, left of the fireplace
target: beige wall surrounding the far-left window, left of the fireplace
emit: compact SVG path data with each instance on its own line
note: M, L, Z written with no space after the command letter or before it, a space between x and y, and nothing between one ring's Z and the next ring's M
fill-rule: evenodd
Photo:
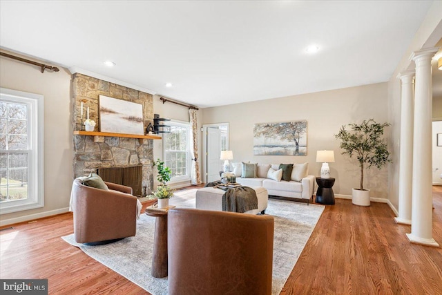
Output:
M70 73L64 68L41 73L37 66L0 57L0 86L44 96L44 207L2 214L1 224L68 211L73 180Z

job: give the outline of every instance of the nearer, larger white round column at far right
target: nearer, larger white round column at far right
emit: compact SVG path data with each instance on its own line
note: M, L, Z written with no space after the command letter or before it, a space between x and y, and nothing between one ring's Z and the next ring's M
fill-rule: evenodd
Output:
M431 59L439 48L416 51L414 144L412 181L412 232L410 242L439 247L432 238L432 75Z

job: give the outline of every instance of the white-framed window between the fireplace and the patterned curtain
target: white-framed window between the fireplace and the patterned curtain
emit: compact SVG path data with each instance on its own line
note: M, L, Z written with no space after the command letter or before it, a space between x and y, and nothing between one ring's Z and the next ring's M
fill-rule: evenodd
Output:
M172 178L188 175L189 126L171 124L171 133L164 133L164 165L172 171Z

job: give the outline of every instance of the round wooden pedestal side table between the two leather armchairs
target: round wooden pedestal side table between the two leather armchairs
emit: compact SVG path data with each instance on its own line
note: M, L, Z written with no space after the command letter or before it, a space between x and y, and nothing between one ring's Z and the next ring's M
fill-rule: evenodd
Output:
M169 209L172 208L175 206L169 206ZM155 278L167 276L167 211L169 209L146 208L146 215L156 218L151 272Z

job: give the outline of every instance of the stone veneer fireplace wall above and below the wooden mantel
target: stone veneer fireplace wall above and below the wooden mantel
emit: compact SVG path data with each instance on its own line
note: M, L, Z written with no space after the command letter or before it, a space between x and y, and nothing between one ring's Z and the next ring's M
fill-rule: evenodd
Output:
M73 75L73 131L81 130L81 99L85 99L83 120L86 120L86 108L89 107L90 120L94 120L95 131L99 131L98 99L106 95L143 106L144 128L153 122L153 97L148 93L137 91L101 79L76 73ZM74 177L88 175L98 167L123 167L142 164L143 194L151 193L153 188L153 140L140 140L125 137L98 137L74 135Z

